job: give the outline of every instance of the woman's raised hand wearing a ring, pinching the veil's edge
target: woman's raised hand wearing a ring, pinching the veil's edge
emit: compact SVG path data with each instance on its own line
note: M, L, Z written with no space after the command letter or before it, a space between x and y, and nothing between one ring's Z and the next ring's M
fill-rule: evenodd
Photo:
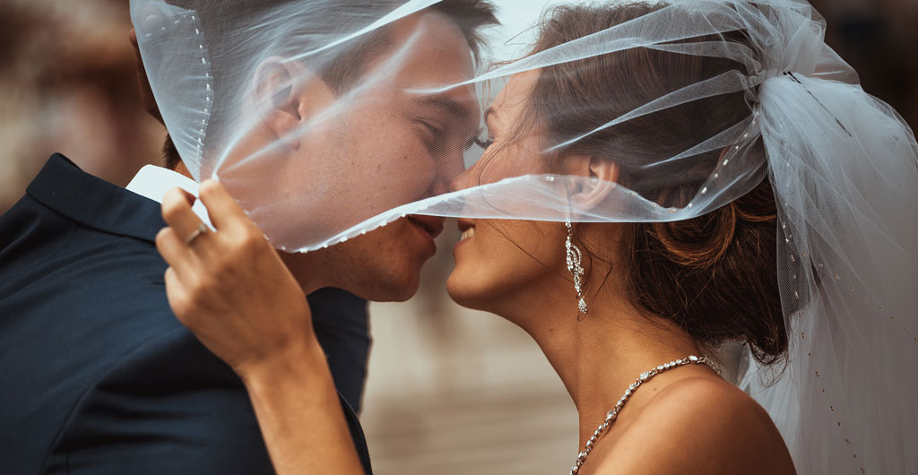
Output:
M252 372L315 355L306 295L262 231L226 188L200 188L217 231L191 209L195 198L174 188L162 200L168 227L156 247L169 263L166 294L178 319L245 380Z

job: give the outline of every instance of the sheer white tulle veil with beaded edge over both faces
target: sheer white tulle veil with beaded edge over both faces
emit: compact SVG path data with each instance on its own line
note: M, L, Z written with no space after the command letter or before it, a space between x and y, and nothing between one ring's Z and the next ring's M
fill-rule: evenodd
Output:
M655 155L634 140L610 140L613 160L634 162L627 184L522 161L493 167L489 152L482 157L472 148L432 166L377 163L375 180L351 189L287 184L290 161L281 151L288 137L247 142L261 127L263 109L272 106L259 97L308 83L317 71L344 61L353 44L440 2L289 0L252 11L241 8L247 3L131 0L131 11L153 93L185 164L197 178L219 178L231 191L242 171L251 175L237 189L241 203L275 246L328 247L412 214L677 221L718 209L767 178L778 204L778 282L789 359L777 370L750 359L741 385L772 414L800 473L918 473L918 371L912 368L918 360L918 145L901 117L865 93L856 72L825 45L823 19L805 1L651 2L656 7L646 15L532 55L525 54L527 40L536 30L519 18L534 21L543 8L567 2L508 2L501 14L508 21L489 29L490 48L482 61L470 62L476 70L460 81L401 92L472 87L487 106L491 93L520 72L565 63L576 71L586 58L656 50L733 66L693 83L661 77L666 94L629 96L622 100L631 101L628 109L583 133L543 143L538 153L551 157L657 112L731 94L742 99L740 114L713 130L703 125L710 117L699 116L690 142L656 148ZM386 43L380 66L291 134L331 133L341 116L370 110L376 87L394 81L412 55L436 50L425 42L435 32L421 26L401 43ZM272 58L297 63L286 73L301 71L302 77L256 94L267 87L259 83L259 68ZM229 69L214 65L221 61L229 61ZM487 68L498 61L506 62ZM372 154L310 160L346 185L351 174L364 174L361 160ZM473 164L476 186L433 186L453 182ZM661 200L663 187L682 198ZM280 192L246 195L252 189ZM599 202L576 199L599 189Z

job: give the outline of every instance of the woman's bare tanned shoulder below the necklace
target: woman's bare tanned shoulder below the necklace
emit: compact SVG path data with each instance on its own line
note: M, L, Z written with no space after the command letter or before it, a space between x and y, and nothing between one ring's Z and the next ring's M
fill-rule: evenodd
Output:
M657 393L593 473L795 472L778 428L755 400L727 381L690 378Z

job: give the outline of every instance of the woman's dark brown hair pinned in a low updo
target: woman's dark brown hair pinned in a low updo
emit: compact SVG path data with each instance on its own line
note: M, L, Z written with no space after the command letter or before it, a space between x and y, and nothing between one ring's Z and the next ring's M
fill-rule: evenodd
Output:
M543 20L532 53L657 8L648 4L556 8ZM737 41L755 50L742 32L688 41ZM677 87L730 70L744 71L744 65L648 48L563 62L541 70L517 127L537 125L546 143L563 143ZM633 190L664 190L645 197L662 206L682 207L692 198L682 191L692 188L684 186L685 165L676 160L667 169L660 158L676 156L742 122L751 115L755 96L754 91L715 95L633 118L557 150L551 160L561 160L566 154L613 160L620 167L618 182L622 185ZM755 146L765 153L761 141ZM697 175L699 186L711 175L721 153L715 150L701 156L689 171ZM650 163L654 163L654 173L646 172ZM642 177L641 182L635 182L635 177ZM677 180L683 183L680 188L666 184ZM707 215L625 226L621 249L625 260L617 262L625 269L617 271L627 273L627 293L639 308L671 319L704 347L740 341L763 363L784 357L788 337L778 295L777 211L767 178L750 193ZM604 259L595 250L588 249L590 257Z

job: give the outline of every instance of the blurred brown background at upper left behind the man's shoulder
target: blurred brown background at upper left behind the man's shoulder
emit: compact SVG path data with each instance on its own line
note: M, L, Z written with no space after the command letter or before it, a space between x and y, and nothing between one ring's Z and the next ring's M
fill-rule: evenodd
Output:
M129 29L128 0L0 0L0 212L54 151L122 185L159 160Z

